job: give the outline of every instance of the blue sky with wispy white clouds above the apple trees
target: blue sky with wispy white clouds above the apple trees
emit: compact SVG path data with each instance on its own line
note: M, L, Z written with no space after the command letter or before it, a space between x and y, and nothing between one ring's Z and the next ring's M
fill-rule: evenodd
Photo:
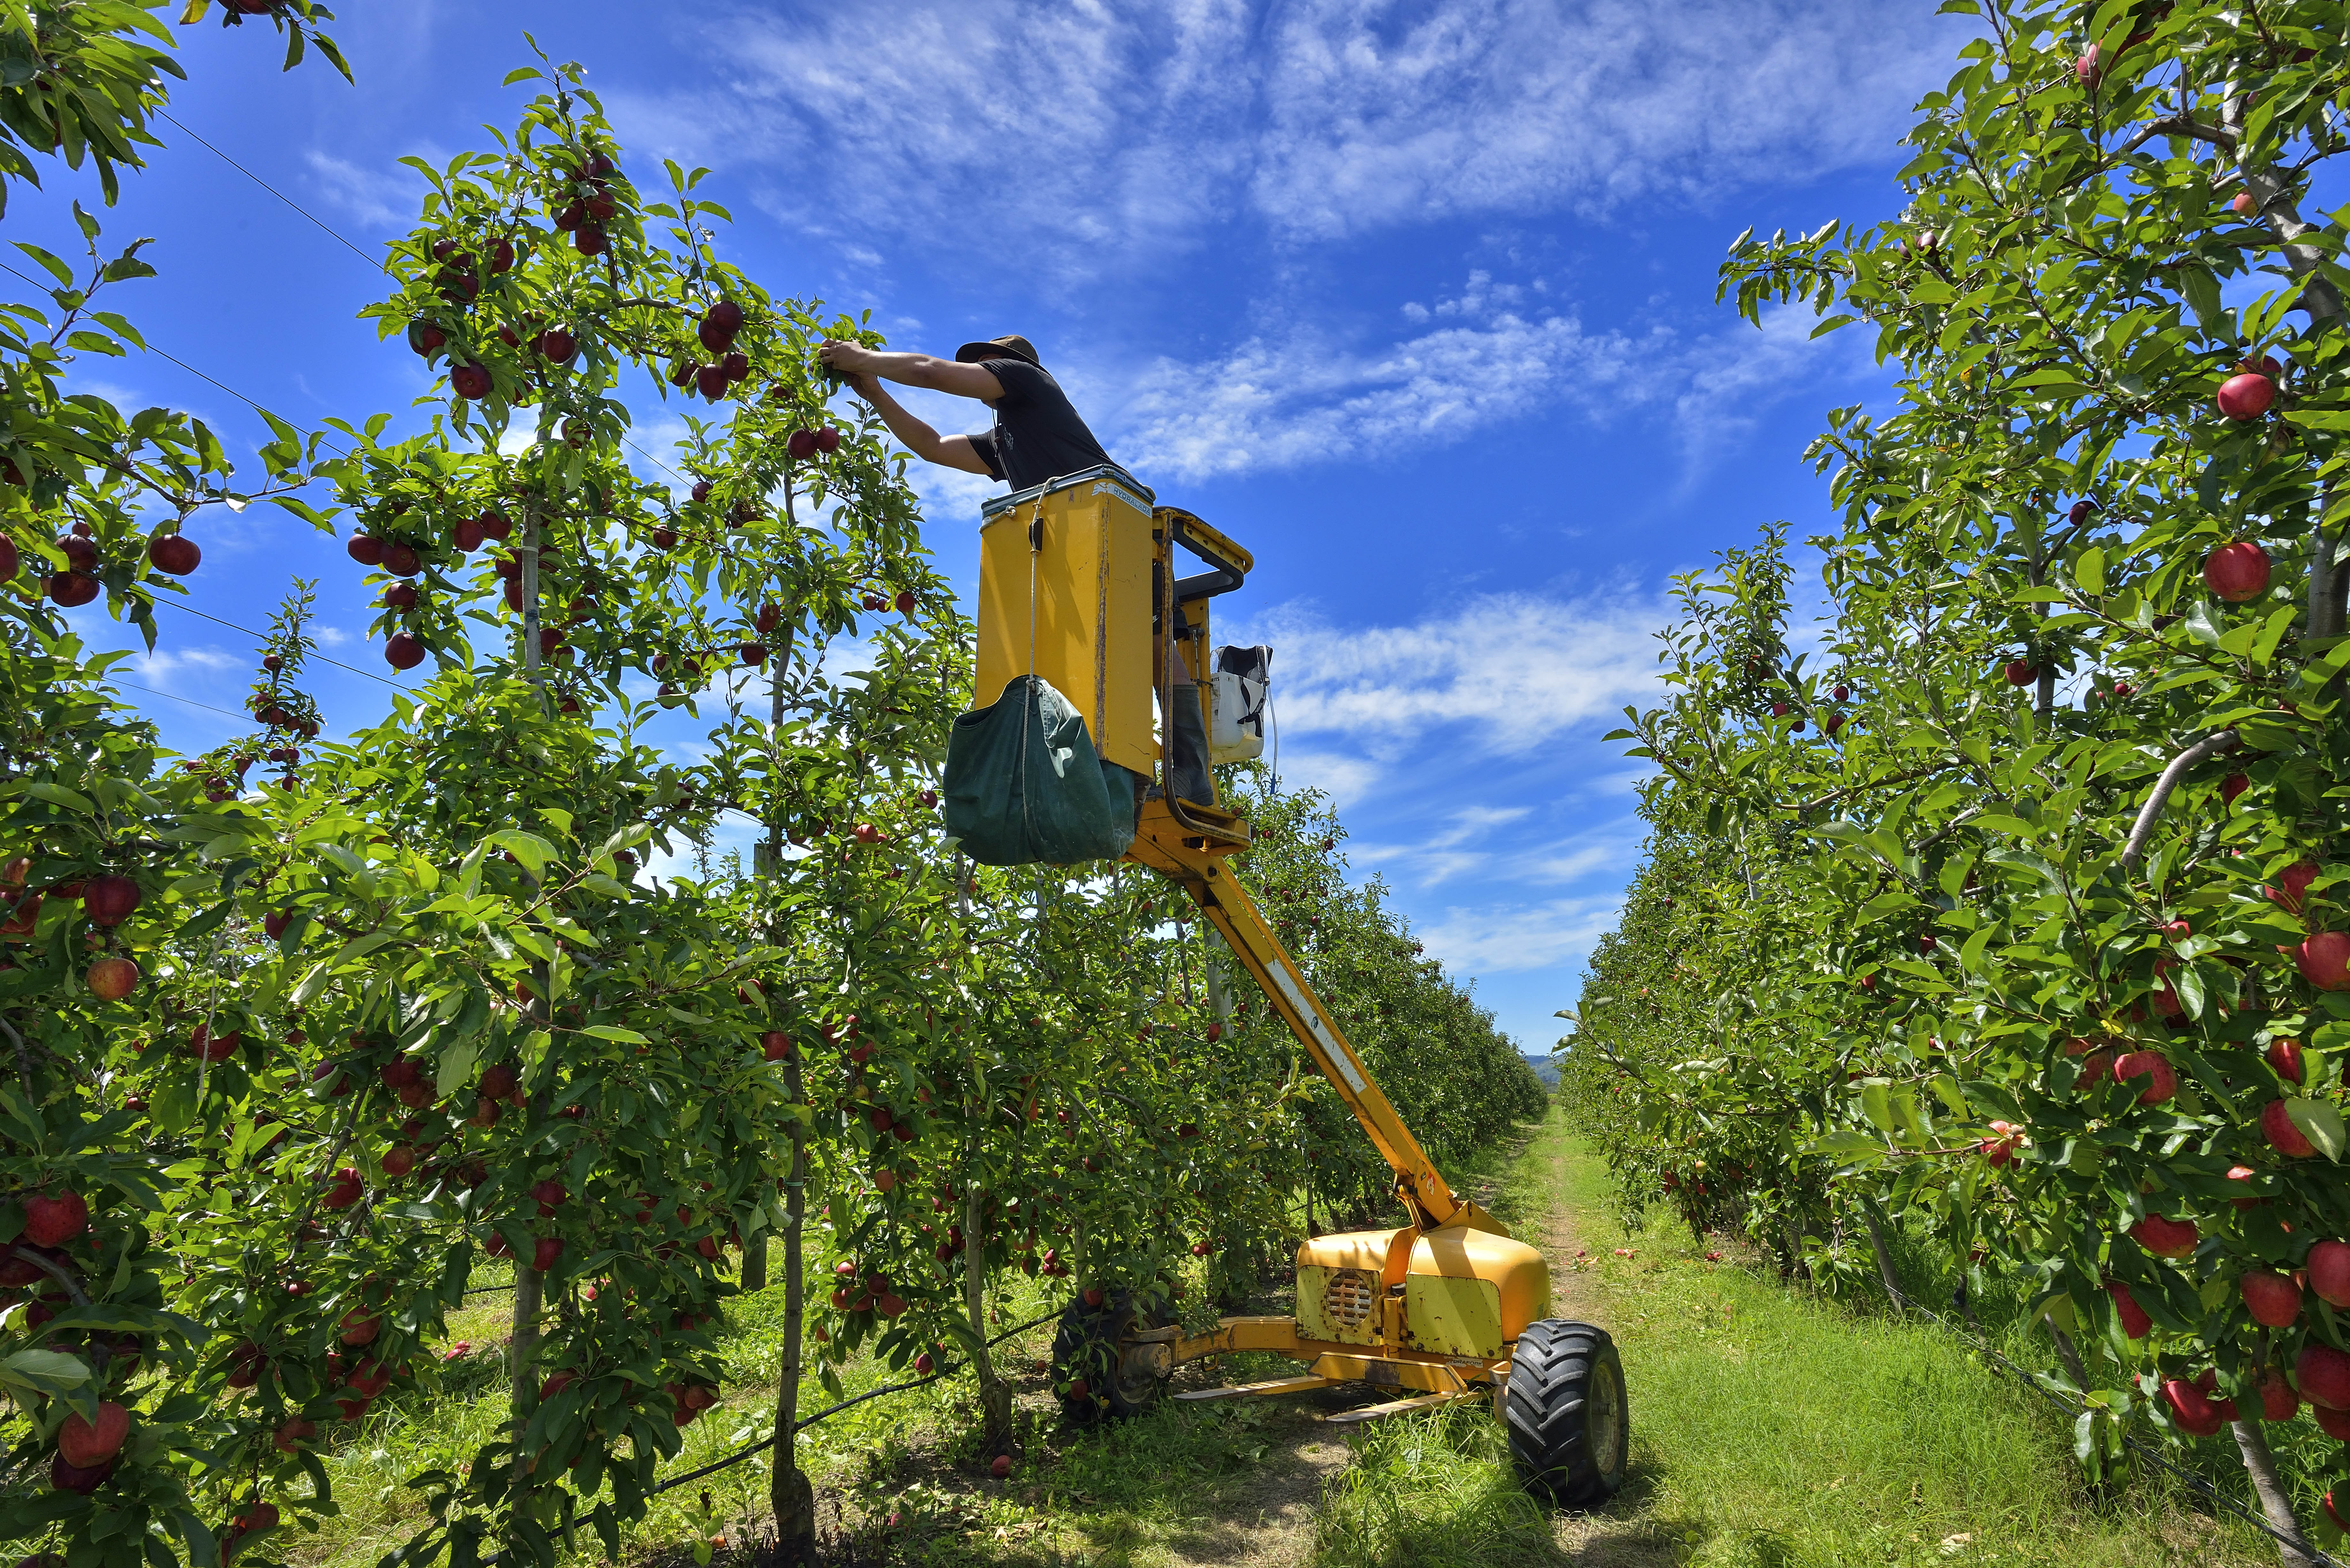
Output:
M1748 223L1894 212L1896 136L1962 42L1929 0L348 12L357 87L280 75L266 28L200 26L172 113L360 249L416 209L400 155L512 122L524 89L498 82L531 31L588 66L632 165L712 169L724 244L768 289L872 308L900 348L1034 339L1119 461L1255 550L1220 635L1274 644L1283 778L1337 797L1354 872L1535 1051L1638 860L1638 771L1600 736L1654 693L1666 578L1774 517L1819 531L1802 444L1885 388L1859 334L1758 331L1713 268ZM155 235L162 277L115 306L235 395L160 357L75 376L244 449L237 395L306 428L409 418L418 360L355 320L367 261L157 129L101 216L108 242ZM7 237L70 254L73 195L59 169ZM674 421L642 421L660 451ZM916 477L968 595L996 487ZM338 541L270 508L190 534L190 607L254 628L320 578L324 651L390 675ZM249 639L160 621L125 677L169 693L143 698L167 738L240 733L204 705L237 705ZM317 677L334 731L390 696Z

